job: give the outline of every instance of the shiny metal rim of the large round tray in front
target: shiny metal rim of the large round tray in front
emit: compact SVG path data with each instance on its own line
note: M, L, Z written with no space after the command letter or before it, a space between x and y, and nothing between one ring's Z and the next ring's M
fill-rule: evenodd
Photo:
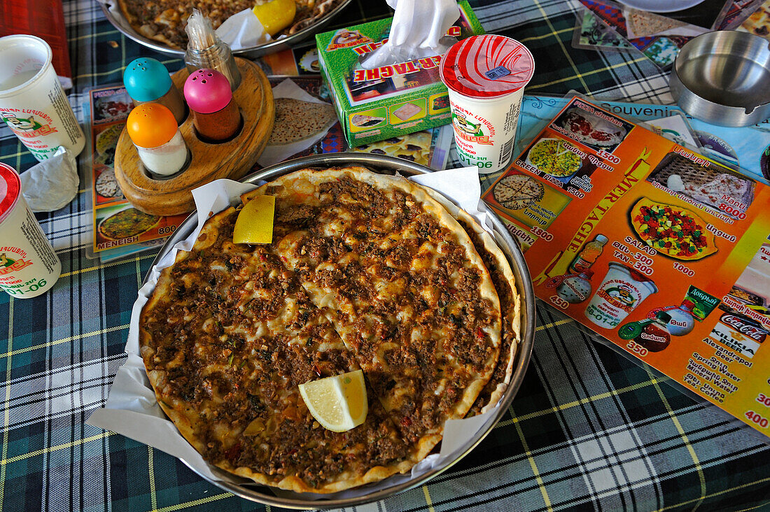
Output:
M400 173L402 176L414 176L416 174L423 174L426 172L432 172L431 169L421 166L414 162L408 162L407 160L393 158L391 156L382 155L370 155L361 153L330 153L327 155L318 156L306 156L300 159L293 159L287 162L282 162L275 166L268 167L262 171L255 172L246 176L241 181L246 183L259 183L269 182L276 179L279 176L294 172L306 167L334 167L334 166L365 166L374 172L381 172L383 174L395 174ZM342 499L330 499L330 500L307 500L303 499L302 494L292 493L290 491L278 491L278 494L273 494L270 487L259 485L251 480L243 478L243 484L229 484L219 480L209 480L211 484L222 488L228 492L236 494L236 496L246 498L246 500L257 501L261 504L266 504L274 507L286 507L296 509L313 509L313 508L338 508L338 507L353 507L360 504L371 503L373 501L383 500L387 497L391 497L394 494L402 493L405 490L412 489L419 485L424 484L427 480L436 477L438 474L443 473L460 459L465 457L470 450L478 445L484 437L494 428L498 421L505 415L511 402L514 400L516 393L521 386L521 381L524 379L524 373L527 371L527 365L529 364L530 356L532 353L532 345L534 343L534 328L535 328L535 300L534 289L532 288L532 281L527 269L527 263L524 261L524 255L521 253L518 244L513 239L510 233L507 232L502 221L490 212L492 219L494 233L497 238L500 249L503 250L508 262L511 263L511 269L514 271L516 277L516 288L521 296L521 340L516 353L516 360L514 362L514 373L511 376L511 383L508 385L507 390L502 397L502 403L500 407L497 407L494 414L494 419L487 422L487 426L484 429L479 430L474 437L472 437L463 447L458 448L450 457L447 457L444 463L433 470L427 471L426 474L414 479L410 479L407 482L401 482L394 484L391 487L387 487L382 490L373 491L369 494L364 494L358 497L347 497ZM198 225L197 212L192 212L190 216L176 229L172 236L166 241L160 253L156 256L156 259L152 262L152 266L164 256L177 242L186 239L190 233ZM145 282L149 277L149 272L145 277ZM186 463L184 460L182 462ZM186 463L189 467L189 464ZM194 468L190 467L193 471ZM234 475L226 474L217 467L211 466L211 470L214 474L226 475L228 478L237 478ZM203 475L200 475L203 477ZM206 477L204 477L206 478ZM387 482L386 480L383 480ZM293 495L296 495L294 497Z

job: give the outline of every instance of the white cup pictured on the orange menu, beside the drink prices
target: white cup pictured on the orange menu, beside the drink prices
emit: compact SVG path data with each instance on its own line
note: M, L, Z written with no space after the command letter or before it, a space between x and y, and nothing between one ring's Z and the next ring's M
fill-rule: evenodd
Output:
M585 308L585 316L600 327L614 329L644 299L658 293L658 286L629 266L613 261L609 267Z

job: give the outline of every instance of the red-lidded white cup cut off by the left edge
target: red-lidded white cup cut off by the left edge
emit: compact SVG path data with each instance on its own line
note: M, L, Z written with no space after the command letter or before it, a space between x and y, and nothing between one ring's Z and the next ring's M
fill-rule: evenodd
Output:
M0 162L0 289L16 299L48 291L62 262L22 196L22 180Z

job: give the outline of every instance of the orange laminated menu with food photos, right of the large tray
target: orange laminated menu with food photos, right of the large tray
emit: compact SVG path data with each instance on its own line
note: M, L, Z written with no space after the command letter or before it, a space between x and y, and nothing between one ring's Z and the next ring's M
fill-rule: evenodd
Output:
M770 434L770 186L576 97L482 199L541 300Z

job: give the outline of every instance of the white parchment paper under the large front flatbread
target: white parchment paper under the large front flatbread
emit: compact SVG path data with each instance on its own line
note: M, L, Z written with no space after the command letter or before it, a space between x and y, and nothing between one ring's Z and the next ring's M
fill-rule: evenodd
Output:
M487 226L486 214L479 209L480 183L476 167L464 169L447 169L414 176L414 182L441 192L448 199L466 210L480 223ZM115 375L115 381L109 392L105 407L95 410L86 422L93 427L112 430L140 443L169 453L184 460L190 467L203 477L213 481L225 481L229 484L257 486L250 480L236 475L226 474L219 468L206 463L198 453L176 430L174 424L166 418L156 400L155 392L147 378L144 362L139 355L139 313L147 302L152 289L155 288L160 271L170 266L176 259L179 250L192 248L198 237L203 223L209 216L239 203L239 196L256 188L255 185L234 182L229 179L219 179L192 191L198 211L198 226L190 235L175 246L150 270L147 283L139 289L139 297L134 303L129 326L129 338L126 343L128 359ZM482 206L483 208L483 206ZM488 226L487 226L488 229ZM440 453L429 455L412 468L411 474L394 475L381 482L368 484L355 489L343 490L334 494L295 493L286 490L269 488L279 497L291 497L304 500L343 499L360 497L375 490L386 489L401 484L414 477L420 477L428 470L439 467L447 459L454 460L467 447L470 440L481 429L494 420L497 407L487 413L464 420L448 420L444 424L444 439L441 442Z

